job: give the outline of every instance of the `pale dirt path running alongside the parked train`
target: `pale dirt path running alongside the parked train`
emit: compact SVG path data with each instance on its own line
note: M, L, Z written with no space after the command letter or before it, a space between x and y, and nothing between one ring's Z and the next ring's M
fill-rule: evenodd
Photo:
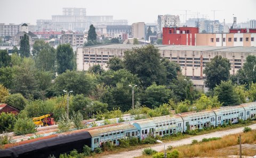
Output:
M250 125L248 127L251 127L252 129L256 129L256 124ZM236 134L241 133L243 131L244 127L235 128L235 129L229 129L229 130L223 130L223 131L215 131L213 133L199 135L199 136L193 136L186 139L181 139L179 141L172 141L165 143L165 147L172 145L172 146L179 146L179 145L186 145L190 144L192 140L196 139L197 141L201 141L203 138L211 138L211 137L223 137L230 134ZM156 151L164 150L164 144L157 144L152 145L151 148L153 148ZM132 158L140 156L144 148L140 148L138 150L128 151L128 152L122 152L117 154L111 154L111 155L105 155L104 158Z

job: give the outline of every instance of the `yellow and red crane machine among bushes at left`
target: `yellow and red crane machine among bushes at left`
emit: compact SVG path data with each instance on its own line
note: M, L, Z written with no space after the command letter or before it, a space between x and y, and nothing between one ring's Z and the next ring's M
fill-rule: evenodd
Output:
M32 120L37 127L51 126L51 125L55 125L55 121L54 121L54 118L52 118L52 116L53 114L51 113L51 114L47 114L39 117L34 117L32 118Z

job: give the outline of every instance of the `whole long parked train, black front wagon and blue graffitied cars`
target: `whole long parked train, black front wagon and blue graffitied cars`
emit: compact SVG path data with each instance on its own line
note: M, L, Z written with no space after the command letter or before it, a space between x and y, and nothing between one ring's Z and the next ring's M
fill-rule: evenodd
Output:
M210 126L217 127L228 124L228 122L235 124L239 119L255 119L255 115L256 102L251 102L209 111L134 120L7 144L4 145L5 150L0 150L0 157L48 157L50 154L59 156L61 153L73 149L81 152L84 145L90 146L93 151L94 148L101 147L105 142L119 145L119 139L122 138L145 139L149 135L172 135L185 132L188 128L195 130Z

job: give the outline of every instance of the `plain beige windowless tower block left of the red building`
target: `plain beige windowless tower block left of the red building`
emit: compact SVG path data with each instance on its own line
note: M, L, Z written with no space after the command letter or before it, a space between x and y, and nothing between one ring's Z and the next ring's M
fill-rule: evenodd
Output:
M145 22L137 22L132 24L133 38L145 38Z

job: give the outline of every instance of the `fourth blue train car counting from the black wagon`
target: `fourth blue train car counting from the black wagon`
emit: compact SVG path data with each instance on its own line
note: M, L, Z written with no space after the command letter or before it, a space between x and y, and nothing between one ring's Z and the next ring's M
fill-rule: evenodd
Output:
M231 124L235 124L239 119L245 120L245 110L242 106L221 107L212 111L216 115L215 126L221 126L224 123L228 124L229 121L231 121Z

